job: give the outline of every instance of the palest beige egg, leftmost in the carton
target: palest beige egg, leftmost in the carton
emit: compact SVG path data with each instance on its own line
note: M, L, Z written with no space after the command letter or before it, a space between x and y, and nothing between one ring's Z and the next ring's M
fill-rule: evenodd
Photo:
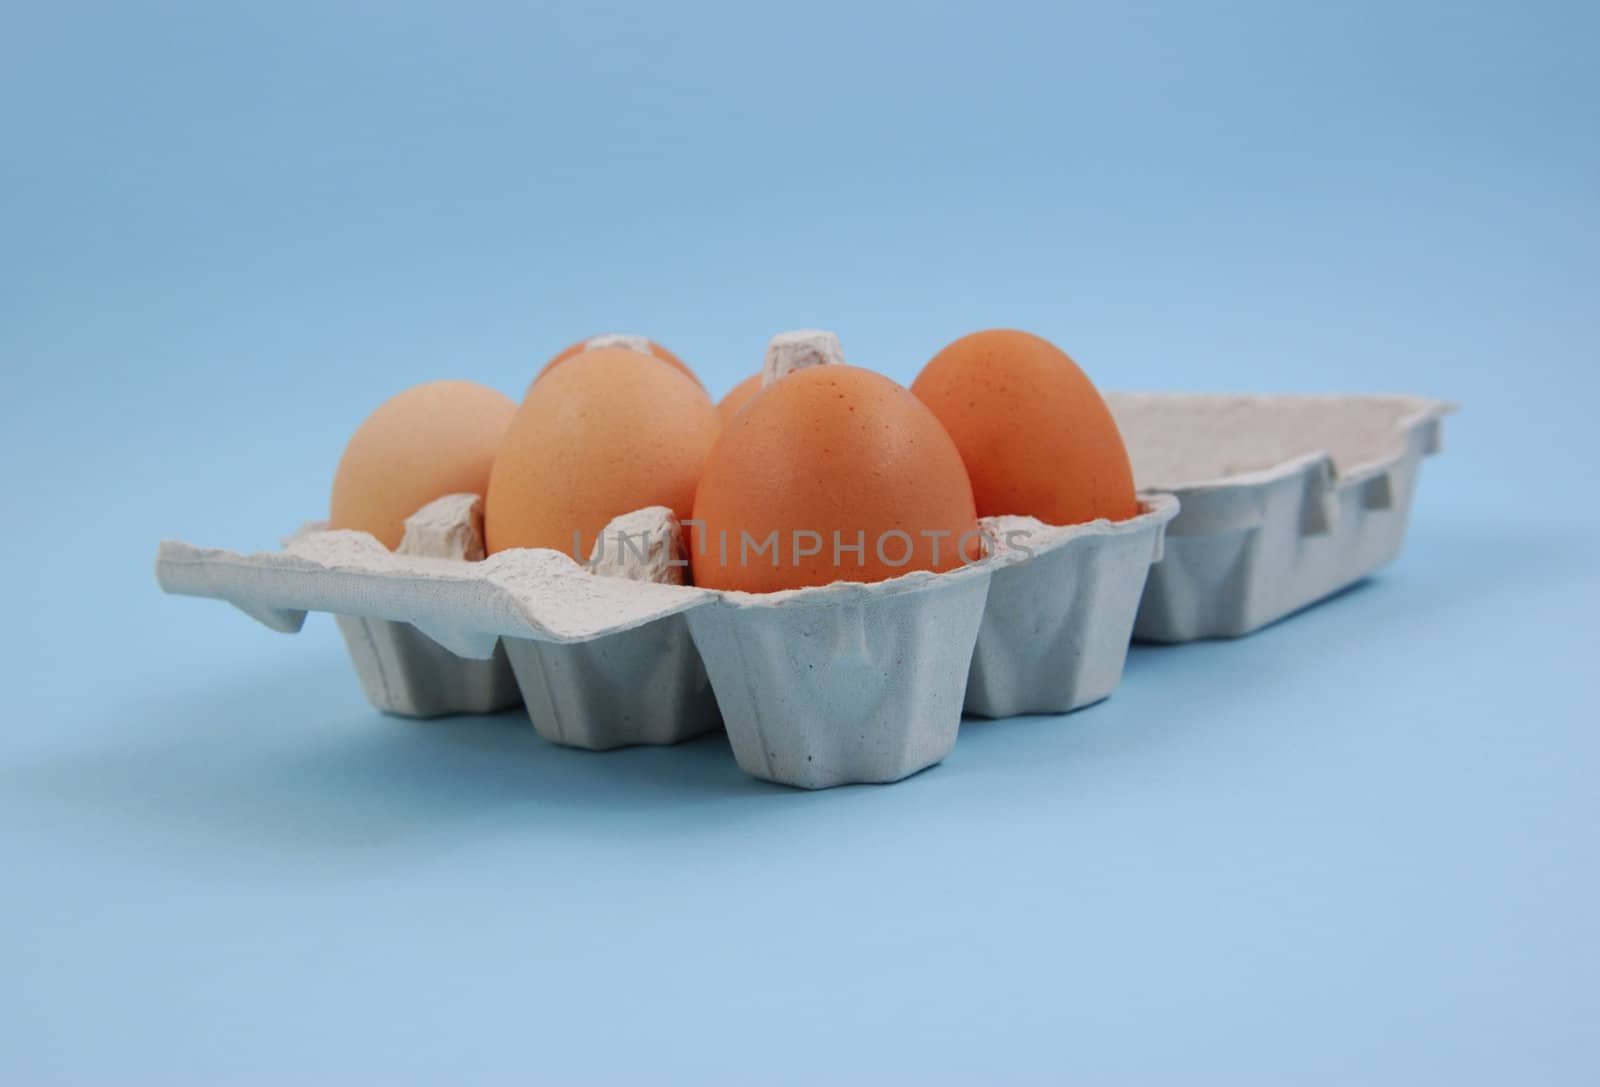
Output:
M331 528L394 551L405 519L445 495L482 495L517 403L472 381L406 389L366 416L333 477Z

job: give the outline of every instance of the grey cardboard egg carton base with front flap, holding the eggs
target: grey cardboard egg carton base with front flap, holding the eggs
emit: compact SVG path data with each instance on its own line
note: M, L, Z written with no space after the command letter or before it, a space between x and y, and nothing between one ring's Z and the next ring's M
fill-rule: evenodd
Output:
M747 773L814 789L939 762L963 704L1066 711L1109 693L1174 512L1155 496L1123 525L1000 519L986 522L998 546L952 572L771 594L597 576L555 551L475 560L472 495L419 511L395 552L312 525L253 556L166 541L155 570L168 592L227 600L277 631L339 616L387 712L478 712L515 690L542 736L592 749L722 722Z

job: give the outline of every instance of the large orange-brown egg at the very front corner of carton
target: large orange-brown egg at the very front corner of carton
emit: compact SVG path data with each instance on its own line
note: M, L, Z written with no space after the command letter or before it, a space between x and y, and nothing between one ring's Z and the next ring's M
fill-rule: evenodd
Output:
M910 392L846 365L792 373L738 413L694 519L690 564L712 589L883 581L981 554L950 435Z

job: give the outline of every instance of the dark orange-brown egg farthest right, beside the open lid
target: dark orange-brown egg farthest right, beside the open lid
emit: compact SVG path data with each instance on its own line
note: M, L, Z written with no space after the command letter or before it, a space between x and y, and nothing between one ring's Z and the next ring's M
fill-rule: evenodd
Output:
M998 328L962 336L910 389L962 450L979 517L1075 525L1139 512L1117 421L1048 339Z

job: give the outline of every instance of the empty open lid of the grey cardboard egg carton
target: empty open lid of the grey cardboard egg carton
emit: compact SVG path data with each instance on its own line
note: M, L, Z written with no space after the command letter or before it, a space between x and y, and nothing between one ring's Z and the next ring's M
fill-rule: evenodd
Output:
M1181 509L1133 634L1250 634L1400 552L1454 405L1382 395L1106 395L1141 490Z

